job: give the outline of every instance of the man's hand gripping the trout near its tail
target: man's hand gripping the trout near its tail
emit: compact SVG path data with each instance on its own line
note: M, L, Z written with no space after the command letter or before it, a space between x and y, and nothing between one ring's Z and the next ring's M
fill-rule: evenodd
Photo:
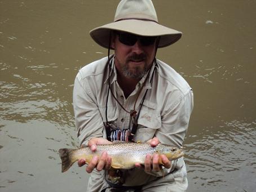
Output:
M93 138L88 142L88 146L91 149L91 151L96 151L97 147L96 145L101 144L111 144L112 142L108 141L104 138ZM78 160L78 166L82 167L85 165L85 159ZM109 169L111 168L111 157L108 157L107 152L103 152L100 157L94 156L88 166L86 167L86 171L88 173L92 172L93 169L96 168L97 171L101 171L102 169Z

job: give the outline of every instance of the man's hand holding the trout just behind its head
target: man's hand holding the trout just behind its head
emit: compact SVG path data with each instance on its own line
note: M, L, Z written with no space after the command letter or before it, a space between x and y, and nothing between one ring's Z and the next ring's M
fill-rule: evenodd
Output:
M152 147L157 146L158 144L160 144L160 141L157 139L157 137L154 137L151 140L148 140L147 142L149 142L151 144ZM144 166L145 166L145 171L146 172L158 172L160 171L160 164L159 164L159 160L161 158L161 161L163 163L163 166L165 168L170 168L171 167L171 162L170 160L165 156L165 155L159 155L157 153L154 153L153 156L151 154L147 154L145 157L145 162L144 162ZM139 163L135 164L136 167L140 167Z

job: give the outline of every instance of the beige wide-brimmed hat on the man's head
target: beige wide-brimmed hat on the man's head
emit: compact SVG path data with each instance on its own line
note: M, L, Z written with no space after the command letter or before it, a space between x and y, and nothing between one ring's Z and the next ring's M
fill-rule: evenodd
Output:
M90 35L100 46L109 47L109 35L113 30L141 36L160 36L158 48L175 43L182 32L158 24L151 0L122 0L116 10L114 22L92 29Z

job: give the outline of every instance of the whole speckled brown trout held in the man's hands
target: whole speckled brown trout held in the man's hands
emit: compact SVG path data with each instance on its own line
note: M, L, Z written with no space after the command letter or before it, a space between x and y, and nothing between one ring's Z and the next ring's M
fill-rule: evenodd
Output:
M169 160L175 160L184 155L183 150L175 146L158 144L152 147L148 143L136 142L118 142L106 145L97 145L96 151L92 152L88 146L80 149L60 149L61 172L67 171L74 162L79 159L85 159L90 163L92 157L100 157L103 151L107 151L108 156L112 158L111 167L114 169L131 169L135 163L144 164L147 154L164 154ZM162 164L161 158L159 163Z

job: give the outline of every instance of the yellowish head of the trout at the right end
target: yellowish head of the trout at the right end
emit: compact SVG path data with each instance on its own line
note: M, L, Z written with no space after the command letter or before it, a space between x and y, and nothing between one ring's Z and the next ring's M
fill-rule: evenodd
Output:
M182 148L177 148L171 145L159 145L158 147L160 148L158 149L160 154L166 155L169 160L175 160L184 156Z

